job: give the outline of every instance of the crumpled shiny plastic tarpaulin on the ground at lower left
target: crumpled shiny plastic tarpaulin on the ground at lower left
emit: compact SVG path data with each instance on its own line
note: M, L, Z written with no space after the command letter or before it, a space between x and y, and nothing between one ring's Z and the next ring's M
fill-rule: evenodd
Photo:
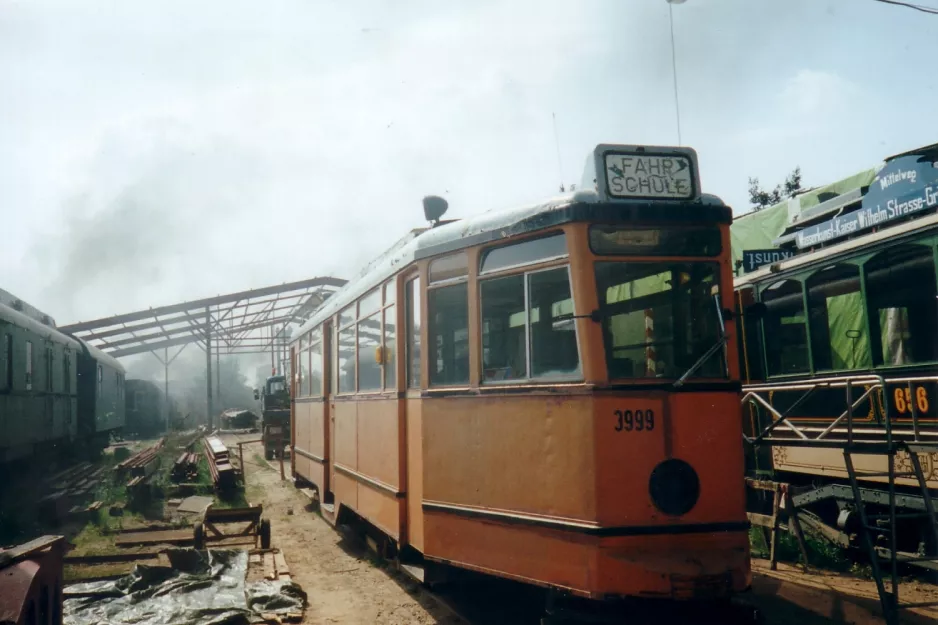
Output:
M66 625L240 625L305 606L295 582L247 581L246 551L172 549L168 556L168 567L138 564L117 580L68 586Z

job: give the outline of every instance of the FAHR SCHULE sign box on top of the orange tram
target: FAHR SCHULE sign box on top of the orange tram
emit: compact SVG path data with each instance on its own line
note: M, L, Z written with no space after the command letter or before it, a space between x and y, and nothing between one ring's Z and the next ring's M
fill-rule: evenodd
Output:
M587 162L583 182L607 201L700 198L697 152L692 148L599 145Z

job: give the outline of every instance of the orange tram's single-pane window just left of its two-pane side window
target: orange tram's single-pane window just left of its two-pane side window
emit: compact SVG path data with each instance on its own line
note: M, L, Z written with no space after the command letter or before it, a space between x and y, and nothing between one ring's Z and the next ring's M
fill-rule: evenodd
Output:
M469 301L465 283L427 293L430 384L469 382Z

